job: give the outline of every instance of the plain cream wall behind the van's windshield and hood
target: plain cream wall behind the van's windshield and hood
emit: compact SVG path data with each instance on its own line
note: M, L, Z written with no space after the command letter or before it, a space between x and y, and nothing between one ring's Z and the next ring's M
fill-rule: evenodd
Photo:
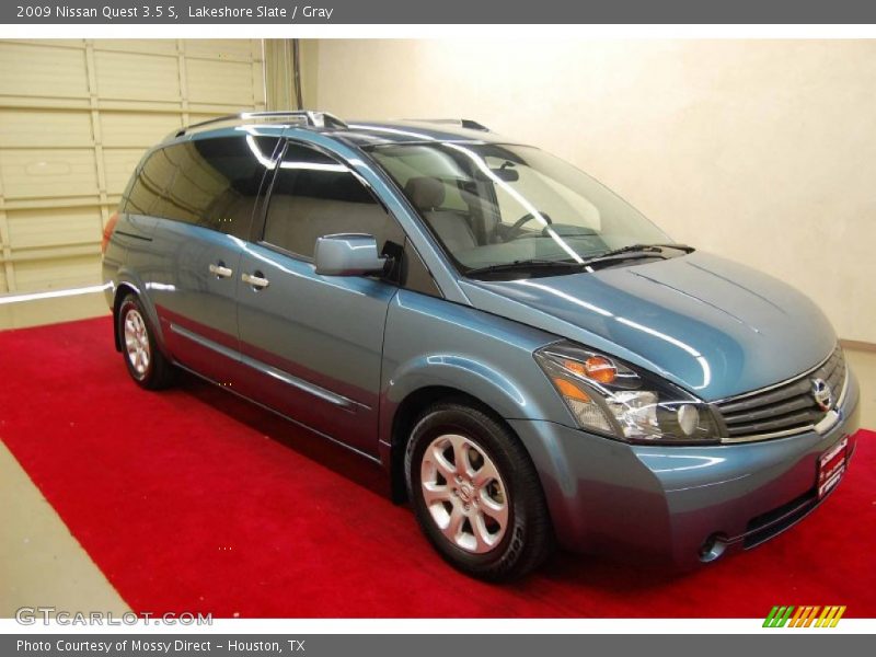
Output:
M322 110L539 145L876 343L876 42L330 39L314 68Z

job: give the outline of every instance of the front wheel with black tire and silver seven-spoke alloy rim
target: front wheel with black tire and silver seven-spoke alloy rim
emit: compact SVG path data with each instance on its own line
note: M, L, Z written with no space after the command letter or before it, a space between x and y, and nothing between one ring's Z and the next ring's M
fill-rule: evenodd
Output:
M504 424L446 402L414 426L404 460L420 529L459 570L488 581L526 575L553 551L535 468Z

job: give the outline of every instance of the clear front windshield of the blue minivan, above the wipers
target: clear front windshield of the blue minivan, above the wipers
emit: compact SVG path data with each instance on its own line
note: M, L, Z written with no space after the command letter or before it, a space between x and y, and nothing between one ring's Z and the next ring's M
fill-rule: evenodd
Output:
M463 274L533 261L584 263L670 241L600 183L537 148L407 143L371 154Z

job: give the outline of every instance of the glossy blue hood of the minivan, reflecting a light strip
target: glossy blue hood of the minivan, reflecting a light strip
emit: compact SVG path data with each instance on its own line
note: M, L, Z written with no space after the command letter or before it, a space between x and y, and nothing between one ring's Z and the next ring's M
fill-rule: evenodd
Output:
M806 296L701 252L592 274L466 280L463 288L481 310L625 359L706 401L799 374L837 343Z

